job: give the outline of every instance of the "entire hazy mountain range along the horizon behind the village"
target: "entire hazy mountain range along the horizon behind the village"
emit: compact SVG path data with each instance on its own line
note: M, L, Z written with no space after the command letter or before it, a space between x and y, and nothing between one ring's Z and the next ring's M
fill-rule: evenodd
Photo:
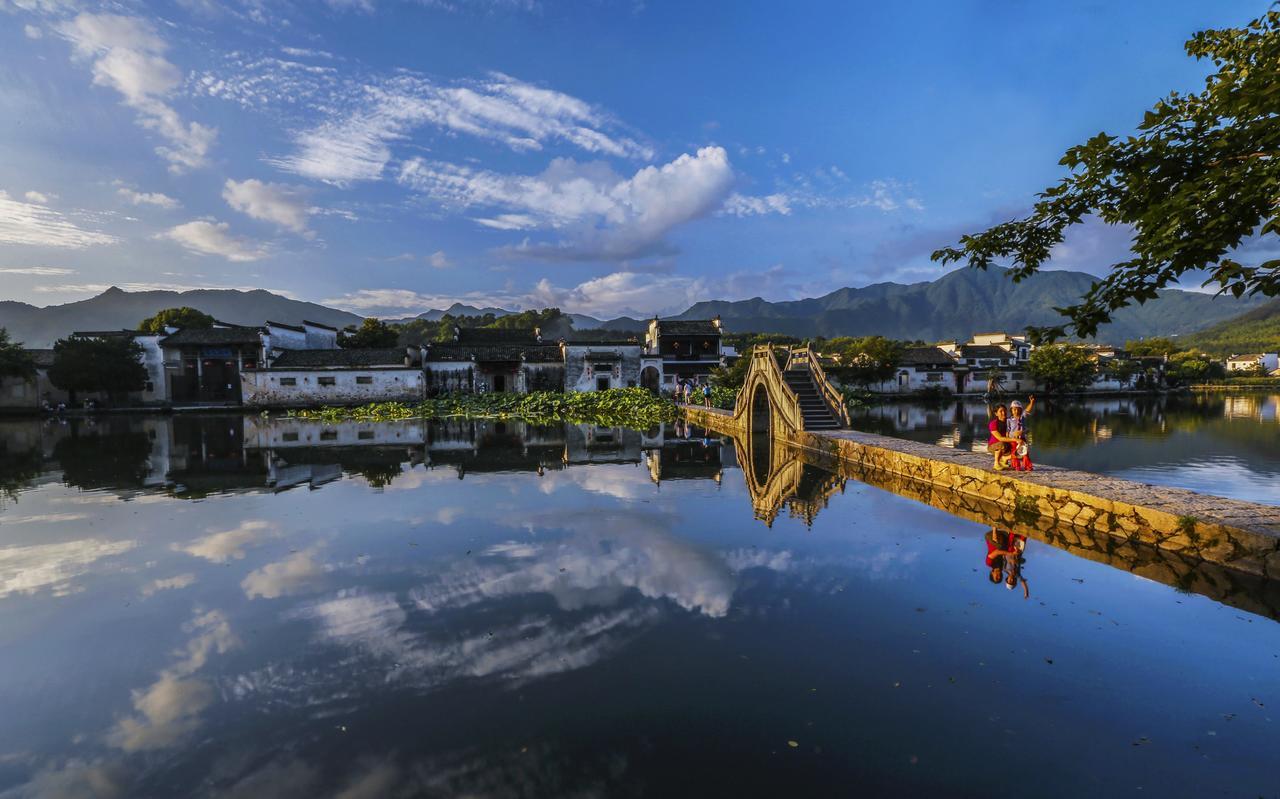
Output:
M783 333L790 335L886 335L900 339L966 339L980 332L1020 332L1028 325L1056 324L1055 306L1075 302L1088 291L1093 277L1079 271L1043 271L1021 283L1009 280L1004 270L957 269L937 280L922 283L876 283L863 288L840 288L822 297L771 302L751 300L705 301L672 319L708 319L719 315L733 333ZM1261 297L1215 297L1201 292L1169 289L1146 305L1120 310L1098 332L1098 341L1124 343L1149 335L1187 335L1226 323L1267 303ZM0 302L0 327L28 347L47 347L73 330L134 328L138 321L166 307L191 306L233 324L261 324L270 319L298 324L303 319L342 328L360 324L356 314L314 302L291 300L271 292L197 289L187 292L106 292L67 305L36 307L26 302ZM417 318L439 320L444 314L497 316L509 311L454 303ZM1260 311L1261 312L1261 311ZM605 328L640 332L645 320L621 316L599 320L571 314L576 329ZM412 318L411 318L412 319ZM394 320L406 321L406 320ZM1228 329L1231 324L1226 325Z

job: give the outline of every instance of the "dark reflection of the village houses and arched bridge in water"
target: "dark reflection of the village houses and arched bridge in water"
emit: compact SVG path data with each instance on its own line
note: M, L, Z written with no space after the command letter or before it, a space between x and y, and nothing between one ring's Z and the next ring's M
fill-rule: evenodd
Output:
M767 460L768 447L764 447ZM813 524L844 480L774 448L759 452L685 423L648 430L599 425L532 425L518 420L323 423L246 415L174 415L0 423L0 455L14 478L61 476L84 489L164 490L200 498L239 490L319 488L360 475L374 488L406 469L448 469L458 479L486 472L543 475L590 464L635 465L655 485L709 480L755 456L746 475L755 516L768 525L785 510Z

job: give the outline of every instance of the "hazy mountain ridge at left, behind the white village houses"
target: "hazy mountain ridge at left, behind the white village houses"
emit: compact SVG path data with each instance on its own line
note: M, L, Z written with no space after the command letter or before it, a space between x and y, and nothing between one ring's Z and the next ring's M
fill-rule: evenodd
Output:
M0 302L0 328L8 328L14 341L20 341L27 347L51 347L55 339L74 330L132 330L156 311L183 305L221 321L244 325L259 325L268 319L284 324L300 324L303 319L310 319L343 328L361 321L356 314L289 300L262 289L125 292L111 287L90 300L47 307Z

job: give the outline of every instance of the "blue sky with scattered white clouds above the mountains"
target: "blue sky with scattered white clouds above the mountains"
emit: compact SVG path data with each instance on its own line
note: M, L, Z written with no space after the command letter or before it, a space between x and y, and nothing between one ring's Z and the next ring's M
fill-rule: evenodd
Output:
M1266 8L0 0L0 298L613 318L934 279Z

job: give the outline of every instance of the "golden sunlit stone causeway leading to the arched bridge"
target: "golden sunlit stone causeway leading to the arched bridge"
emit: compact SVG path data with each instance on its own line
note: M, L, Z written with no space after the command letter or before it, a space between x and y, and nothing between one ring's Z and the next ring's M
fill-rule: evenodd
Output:
M684 412L712 430L749 434L728 411L686 406ZM932 487L932 493L955 494L951 501L931 499L938 507L959 507L972 498L980 502L991 524L1018 521L1053 529L1055 535L1070 535L1075 528L1094 538L1106 534L1116 545L1152 545L1280 577L1280 507L1053 466L997 472L989 456L852 430L801 430L781 443L827 458L864 481L883 483L874 476L897 475L915 487Z

